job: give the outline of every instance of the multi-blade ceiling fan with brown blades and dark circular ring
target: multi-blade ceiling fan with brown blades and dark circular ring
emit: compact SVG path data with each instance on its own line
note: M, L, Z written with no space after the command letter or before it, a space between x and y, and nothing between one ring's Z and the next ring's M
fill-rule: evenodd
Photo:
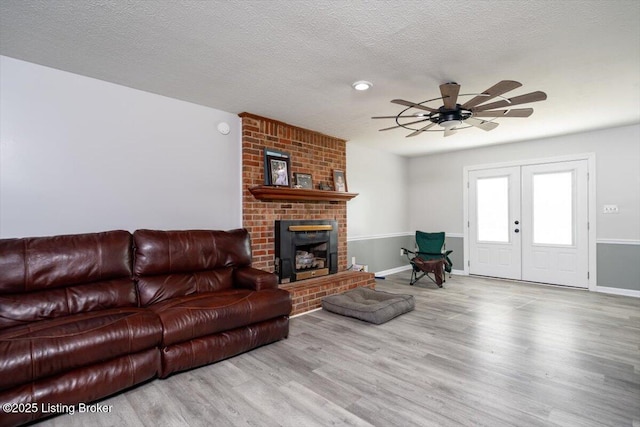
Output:
M394 104L404 105L404 110L395 116L377 116L372 119L395 119L397 126L380 129L390 130L405 128L411 130L407 137L420 135L422 132L443 132L444 136L451 136L460 129L477 127L490 131L498 127L494 120L500 117L529 117L533 114L533 108L512 108L516 105L530 102L544 101L547 94L541 91L527 93L525 95L505 98L503 94L522 86L522 83L513 80L502 80L482 93L460 94L460 85L457 83L444 83L440 85L441 97L422 102L405 101L404 99L392 99ZM459 97L472 97L464 104L458 104ZM494 98L498 101L486 103ZM427 104L434 101L442 101L443 105L431 107ZM498 108L498 109L496 109ZM413 110L413 111L412 111ZM488 118L489 120L485 120ZM422 126L421 123L425 123ZM439 125L438 129L431 129Z

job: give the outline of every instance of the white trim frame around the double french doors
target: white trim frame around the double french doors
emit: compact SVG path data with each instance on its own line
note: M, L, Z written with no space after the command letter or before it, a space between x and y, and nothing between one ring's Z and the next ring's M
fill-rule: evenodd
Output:
M464 275L469 275L469 172L483 170L483 169L495 169L512 166L529 166L539 165L545 163L559 163L570 162L575 160L587 161L587 221L589 224L588 230L588 244L587 250L589 251L589 290L595 291L597 288L597 257L596 257L596 154L595 153L581 153L570 154L566 156L554 156L535 159L522 159L513 160L500 163L485 163L479 165L464 166L462 168L462 206L463 206L463 223L462 229L464 230Z

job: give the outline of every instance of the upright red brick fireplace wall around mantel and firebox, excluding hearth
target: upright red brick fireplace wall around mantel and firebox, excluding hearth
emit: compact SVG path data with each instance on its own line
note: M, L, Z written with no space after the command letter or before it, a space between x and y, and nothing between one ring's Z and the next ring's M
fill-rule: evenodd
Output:
M264 184L264 149L286 151L295 172L312 175L313 186L333 182L333 170L346 171L346 141L276 120L241 113L242 223L249 230L256 268L274 271L274 222L279 219L335 219L338 271L347 268L347 202L260 201L249 188Z

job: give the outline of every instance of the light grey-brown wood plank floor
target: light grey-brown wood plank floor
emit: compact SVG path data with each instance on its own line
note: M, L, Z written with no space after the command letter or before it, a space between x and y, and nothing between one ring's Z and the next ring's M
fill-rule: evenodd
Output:
M640 426L640 299L453 276L382 325L322 310L288 339L41 426ZM39 425L39 426L40 426Z

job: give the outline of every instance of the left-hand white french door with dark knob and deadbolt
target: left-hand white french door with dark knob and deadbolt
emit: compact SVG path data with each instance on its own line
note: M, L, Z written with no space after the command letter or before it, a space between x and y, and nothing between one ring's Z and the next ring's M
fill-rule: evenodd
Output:
M521 278L520 167L469 173L471 274Z

